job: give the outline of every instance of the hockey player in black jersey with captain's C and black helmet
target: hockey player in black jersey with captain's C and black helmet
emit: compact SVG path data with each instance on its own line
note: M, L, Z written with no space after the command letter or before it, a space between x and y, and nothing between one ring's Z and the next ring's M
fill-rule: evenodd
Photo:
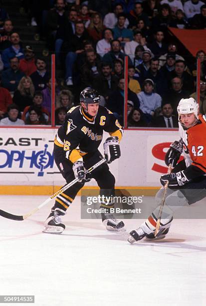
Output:
M74 200L84 182L94 178L100 187L100 195L114 195L115 177L110 172L107 163L103 163L91 172L91 177L85 175L85 169L102 159L98 147L102 141L103 130L110 137L104 142L104 152L110 163L120 157L119 142L122 138L122 127L113 113L99 105L100 95L92 88L85 88L80 94L80 106L72 107L66 114L64 123L59 127L54 139L54 159L56 165L66 180L66 183L78 178L78 182L56 197L44 225L44 232L61 233L65 225L60 216ZM101 203L108 213L102 213L102 222L108 230L124 228L124 222L118 221L110 213L112 204Z

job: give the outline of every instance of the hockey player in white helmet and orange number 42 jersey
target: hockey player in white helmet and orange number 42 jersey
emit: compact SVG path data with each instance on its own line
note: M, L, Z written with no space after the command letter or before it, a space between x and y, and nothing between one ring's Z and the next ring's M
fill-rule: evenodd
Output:
M174 167L172 173L163 174L160 178L162 185L167 181L169 184L159 233L155 237L163 187L156 194L157 208L140 227L130 232L128 238L130 243L144 237L164 238L169 231L175 211L206 197L206 115L199 114L199 105L192 97L181 99L177 109L181 139L173 142L166 153L166 164L172 163ZM184 159L178 163L181 153Z

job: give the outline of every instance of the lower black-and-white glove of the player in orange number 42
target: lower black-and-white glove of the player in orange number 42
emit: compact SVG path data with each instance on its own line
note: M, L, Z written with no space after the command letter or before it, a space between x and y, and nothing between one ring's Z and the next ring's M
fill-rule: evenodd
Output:
M184 184L190 181L190 179L187 178L184 170L179 171L177 173L161 175L160 182L163 186L166 184L167 180L169 181L168 187L183 186Z

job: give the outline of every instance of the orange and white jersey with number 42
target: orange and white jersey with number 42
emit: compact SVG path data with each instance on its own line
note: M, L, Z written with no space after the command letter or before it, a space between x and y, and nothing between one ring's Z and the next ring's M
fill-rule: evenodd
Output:
M192 164L206 172L206 115L200 114L198 123L187 130L179 123L179 132L186 166Z

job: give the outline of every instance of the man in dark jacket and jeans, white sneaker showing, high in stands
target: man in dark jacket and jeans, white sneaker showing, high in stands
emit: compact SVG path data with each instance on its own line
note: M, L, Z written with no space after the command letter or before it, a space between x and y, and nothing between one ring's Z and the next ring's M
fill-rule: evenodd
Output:
M77 21L75 24L75 34L70 37L70 41L64 41L62 48L66 55L66 84L73 85L72 70L77 54L84 52L84 40L88 40L89 36L85 31L84 23Z

